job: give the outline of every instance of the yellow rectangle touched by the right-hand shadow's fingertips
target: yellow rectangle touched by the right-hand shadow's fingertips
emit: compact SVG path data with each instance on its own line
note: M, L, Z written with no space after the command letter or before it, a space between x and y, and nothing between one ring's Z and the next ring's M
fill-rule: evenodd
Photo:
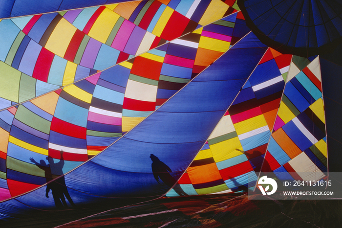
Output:
M215 162L227 160L241 155L243 151L240 140L234 137L210 146Z

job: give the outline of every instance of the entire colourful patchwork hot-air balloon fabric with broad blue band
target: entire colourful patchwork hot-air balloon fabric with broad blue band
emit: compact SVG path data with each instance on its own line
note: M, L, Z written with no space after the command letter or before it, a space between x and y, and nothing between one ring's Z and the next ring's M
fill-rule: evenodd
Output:
M234 0L24 3L0 20L2 220L325 177L328 63L264 44Z

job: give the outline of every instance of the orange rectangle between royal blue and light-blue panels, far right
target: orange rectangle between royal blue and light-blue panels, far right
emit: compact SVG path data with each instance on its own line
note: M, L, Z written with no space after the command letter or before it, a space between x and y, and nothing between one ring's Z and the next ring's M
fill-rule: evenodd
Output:
M279 128L276 132L274 132L272 137L291 159L295 158L302 152L298 146L286 135L282 128Z

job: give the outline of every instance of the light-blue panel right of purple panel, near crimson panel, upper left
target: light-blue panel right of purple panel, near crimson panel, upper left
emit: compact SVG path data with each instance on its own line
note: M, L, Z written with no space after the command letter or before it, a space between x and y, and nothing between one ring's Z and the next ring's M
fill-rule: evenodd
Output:
M105 44L101 45L97 54L94 69L104 70L116 64L120 51Z

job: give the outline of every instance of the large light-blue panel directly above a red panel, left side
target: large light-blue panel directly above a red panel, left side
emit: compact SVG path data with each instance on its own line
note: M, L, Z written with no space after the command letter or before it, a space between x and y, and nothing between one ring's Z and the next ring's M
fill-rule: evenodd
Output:
M86 127L88 110L75 105L62 97L58 99L55 117L65 122L75 124L80 127Z

